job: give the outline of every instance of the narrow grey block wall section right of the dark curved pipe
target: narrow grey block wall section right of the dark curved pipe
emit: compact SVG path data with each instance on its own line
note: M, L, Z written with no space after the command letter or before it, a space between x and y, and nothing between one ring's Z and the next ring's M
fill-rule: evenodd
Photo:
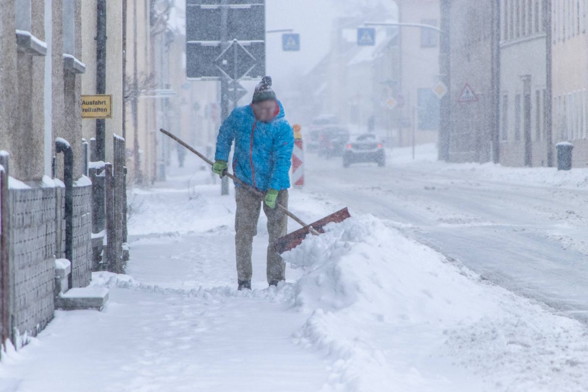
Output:
M65 236L65 234L64 234ZM74 287L90 284L92 276L92 186L74 187Z

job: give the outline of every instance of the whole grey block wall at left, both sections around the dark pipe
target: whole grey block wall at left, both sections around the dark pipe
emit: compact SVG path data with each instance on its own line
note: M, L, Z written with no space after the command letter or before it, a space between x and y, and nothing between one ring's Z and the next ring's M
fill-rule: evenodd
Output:
M88 286L91 280L91 192L89 182L74 187L74 287ZM35 336L54 314L55 258L65 257L65 188L17 188L9 193L11 326L14 337Z

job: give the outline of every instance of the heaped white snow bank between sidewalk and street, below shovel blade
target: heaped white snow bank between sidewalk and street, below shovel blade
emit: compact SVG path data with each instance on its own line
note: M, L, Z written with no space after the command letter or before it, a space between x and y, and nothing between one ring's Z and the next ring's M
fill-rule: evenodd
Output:
M312 316L295 339L333 361L334 390L588 385L582 324L492 286L375 217L330 225L284 256L307 270L295 301ZM447 368L447 358L456 366Z

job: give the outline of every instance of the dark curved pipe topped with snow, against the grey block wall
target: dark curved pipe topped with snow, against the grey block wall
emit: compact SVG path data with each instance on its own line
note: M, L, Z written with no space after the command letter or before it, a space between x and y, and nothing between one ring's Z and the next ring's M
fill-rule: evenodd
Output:
M74 151L67 140L57 138L55 153L64 153L65 258L72 264L72 272L68 277L68 289L71 289L74 287Z

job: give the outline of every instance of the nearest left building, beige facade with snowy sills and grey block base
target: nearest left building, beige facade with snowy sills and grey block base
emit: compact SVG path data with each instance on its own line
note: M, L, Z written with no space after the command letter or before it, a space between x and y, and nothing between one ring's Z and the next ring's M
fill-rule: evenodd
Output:
M2 339L17 347L52 319L55 260L91 279L91 184L83 160L81 4L2 1ZM70 181L71 180L71 181ZM65 181L65 184L64 184Z

